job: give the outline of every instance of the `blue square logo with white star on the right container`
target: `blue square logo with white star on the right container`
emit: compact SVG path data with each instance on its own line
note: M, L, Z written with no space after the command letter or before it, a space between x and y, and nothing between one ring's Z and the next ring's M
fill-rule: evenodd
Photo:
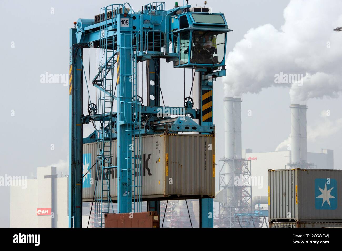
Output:
M315 179L316 209L337 209L336 179Z

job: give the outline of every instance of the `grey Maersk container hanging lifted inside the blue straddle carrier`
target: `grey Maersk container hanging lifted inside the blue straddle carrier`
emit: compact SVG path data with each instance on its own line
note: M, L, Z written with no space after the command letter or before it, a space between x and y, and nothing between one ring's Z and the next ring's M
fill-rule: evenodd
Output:
M142 136L141 141L141 172L135 169L134 175L135 179L141 176L143 200L214 198L215 135L158 134ZM116 165L117 140L113 140L112 154L115 156L112 163ZM96 162L96 155L96 143L83 144L83 168L92 167ZM83 178L83 201L93 199L95 166ZM99 189L96 194L98 192ZM110 195L113 201L117 200L115 168L110 181Z

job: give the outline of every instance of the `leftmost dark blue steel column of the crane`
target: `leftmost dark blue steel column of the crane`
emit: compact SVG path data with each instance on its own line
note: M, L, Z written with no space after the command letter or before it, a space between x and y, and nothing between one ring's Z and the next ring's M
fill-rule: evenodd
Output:
M82 227L82 52L70 29L69 59L69 227Z

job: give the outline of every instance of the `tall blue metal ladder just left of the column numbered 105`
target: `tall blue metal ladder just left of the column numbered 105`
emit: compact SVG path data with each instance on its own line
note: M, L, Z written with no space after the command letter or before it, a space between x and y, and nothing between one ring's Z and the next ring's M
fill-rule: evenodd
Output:
M107 8L101 9L101 14L106 17ZM100 66L96 74L93 84L100 87L102 95L98 97L99 111L101 117L101 129L99 130L101 138L97 139L97 160L100 163L100 196L96 200L100 203L100 215L97 216L99 227L104 227L105 214L109 213L111 205L110 197L110 179L111 170L115 168L112 163L113 154L112 147L112 129L113 129L113 84L114 84L114 65L116 63L116 51L114 47L114 36L107 32L107 18L101 22L101 39L100 39Z

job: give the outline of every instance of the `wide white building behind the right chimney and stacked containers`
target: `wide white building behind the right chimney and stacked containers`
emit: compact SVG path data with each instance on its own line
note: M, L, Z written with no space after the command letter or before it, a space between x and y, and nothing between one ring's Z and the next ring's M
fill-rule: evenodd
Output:
M317 169L334 169L333 150L321 150L321 153L307 153L307 162ZM267 196L267 170L285 169L291 163L291 151L253 153L251 149L242 150L242 158L251 161L252 196Z

